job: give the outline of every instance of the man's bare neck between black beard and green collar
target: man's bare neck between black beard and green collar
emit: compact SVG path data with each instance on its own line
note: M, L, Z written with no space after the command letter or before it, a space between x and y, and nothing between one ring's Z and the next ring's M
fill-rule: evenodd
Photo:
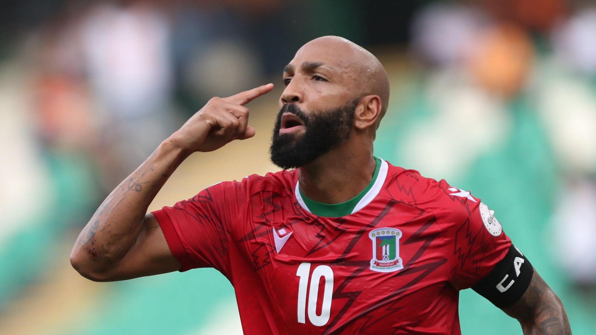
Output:
M302 193L321 203L342 203L357 196L373 179L373 150L335 148L299 170ZM372 149L372 148L371 148Z

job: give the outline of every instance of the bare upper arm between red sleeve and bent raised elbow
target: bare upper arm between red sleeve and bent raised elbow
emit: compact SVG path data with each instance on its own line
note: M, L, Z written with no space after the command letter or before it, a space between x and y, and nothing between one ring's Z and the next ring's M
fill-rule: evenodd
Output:
M127 280L178 271L181 264L172 255L155 216L147 213L131 250L105 274L106 281Z

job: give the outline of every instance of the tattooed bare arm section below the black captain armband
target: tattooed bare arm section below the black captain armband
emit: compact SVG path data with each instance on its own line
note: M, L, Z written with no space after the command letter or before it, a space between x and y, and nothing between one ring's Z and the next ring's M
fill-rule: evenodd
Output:
M536 272L526 293L503 311L520 321L525 335L571 335L561 300Z

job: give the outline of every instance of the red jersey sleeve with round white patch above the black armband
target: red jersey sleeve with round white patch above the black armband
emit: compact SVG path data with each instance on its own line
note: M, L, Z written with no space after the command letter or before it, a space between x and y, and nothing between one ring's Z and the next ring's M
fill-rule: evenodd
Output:
M451 283L458 290L468 289L505 258L511 239L502 230L495 212L479 198L444 180L439 182L439 188L439 220L448 231Z

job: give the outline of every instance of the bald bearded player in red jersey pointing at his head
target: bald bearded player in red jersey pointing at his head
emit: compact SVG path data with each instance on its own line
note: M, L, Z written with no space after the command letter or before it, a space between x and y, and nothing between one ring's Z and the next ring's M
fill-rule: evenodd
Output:
M318 38L283 82L270 151L284 170L146 213L190 154L254 136L244 104L273 85L212 98L105 199L74 268L94 281L216 268L246 334L460 334L469 287L526 334L570 334L557 296L480 199L373 156L389 101L373 54Z

